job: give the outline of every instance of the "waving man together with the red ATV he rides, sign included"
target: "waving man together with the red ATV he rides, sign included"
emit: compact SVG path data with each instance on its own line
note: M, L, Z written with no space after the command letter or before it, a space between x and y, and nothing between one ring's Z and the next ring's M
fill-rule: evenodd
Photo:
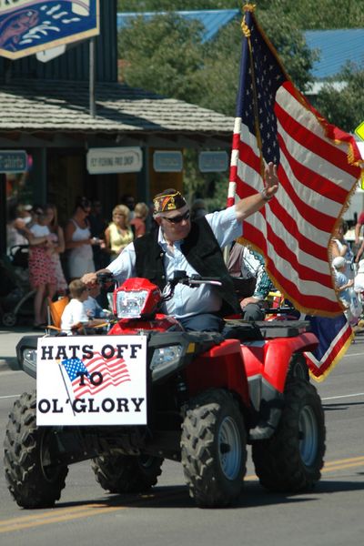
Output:
M114 290L106 336L19 342L19 364L36 377L6 426L5 479L19 506L53 506L68 466L81 460L92 460L103 489L144 492L164 459L181 462L197 506L227 506L243 487L247 444L268 490L314 487L325 420L304 353L318 339L299 320L230 320L231 335L217 331L217 313L238 307L220 247L277 189L271 164L261 194L191 223L179 192L159 194L158 228L126 247L106 275L83 278L126 279Z

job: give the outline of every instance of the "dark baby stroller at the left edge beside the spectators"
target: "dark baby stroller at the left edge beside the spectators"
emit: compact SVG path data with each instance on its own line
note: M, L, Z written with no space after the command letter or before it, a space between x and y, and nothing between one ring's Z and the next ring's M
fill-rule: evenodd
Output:
M27 245L10 248L0 259L0 314L4 326L15 326L19 319L33 318L34 295L29 285Z

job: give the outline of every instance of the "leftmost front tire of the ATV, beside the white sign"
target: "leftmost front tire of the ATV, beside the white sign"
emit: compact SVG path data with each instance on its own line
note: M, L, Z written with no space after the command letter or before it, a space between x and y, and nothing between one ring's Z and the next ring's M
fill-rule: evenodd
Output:
M68 468L46 466L53 429L37 427L35 413L35 391L25 392L15 401L5 433L5 478L19 506L49 508L61 496Z

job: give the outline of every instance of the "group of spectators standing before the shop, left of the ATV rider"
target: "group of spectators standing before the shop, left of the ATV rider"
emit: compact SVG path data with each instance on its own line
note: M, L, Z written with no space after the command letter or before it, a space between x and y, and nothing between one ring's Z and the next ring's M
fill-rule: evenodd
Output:
M87 298L85 293L80 297L79 279L86 272L106 268L128 243L147 231L149 207L135 203L132 196L123 196L120 200L107 221L100 200L77 197L72 216L64 227L58 223L56 205L51 203L18 204L9 211L7 255L15 268L22 268L23 280L25 275L29 291L34 291L35 329L45 328L49 299L69 294L75 300L73 308L78 310L79 298L88 298L85 310L88 319L103 317L102 307L96 300L98 294L93 301L88 293Z

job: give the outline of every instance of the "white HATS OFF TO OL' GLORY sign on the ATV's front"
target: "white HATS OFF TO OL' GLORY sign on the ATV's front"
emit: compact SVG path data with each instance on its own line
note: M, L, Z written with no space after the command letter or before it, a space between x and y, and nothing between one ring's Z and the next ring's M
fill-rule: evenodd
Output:
M147 424L147 337L38 339L36 424Z

